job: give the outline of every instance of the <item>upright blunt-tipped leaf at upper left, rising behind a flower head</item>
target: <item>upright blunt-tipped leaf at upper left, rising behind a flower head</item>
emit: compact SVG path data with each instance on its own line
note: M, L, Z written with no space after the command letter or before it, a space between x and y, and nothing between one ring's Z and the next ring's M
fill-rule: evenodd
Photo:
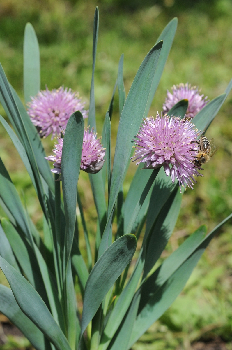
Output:
M23 40L23 91L25 103L40 90L39 43L31 23L27 23Z

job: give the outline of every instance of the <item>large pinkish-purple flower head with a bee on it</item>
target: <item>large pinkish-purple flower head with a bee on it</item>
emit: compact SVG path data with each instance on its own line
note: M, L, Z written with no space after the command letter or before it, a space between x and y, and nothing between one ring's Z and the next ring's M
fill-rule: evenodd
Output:
M193 161L199 145L195 143L199 132L191 121L179 117L159 116L146 118L137 134L136 160L146 163L146 168L164 167L167 176L175 178L186 188L196 183L194 176L201 175ZM193 150L194 148L194 150ZM196 150L196 151L195 151ZM132 158L134 158L132 157ZM170 169L171 165L171 169ZM202 176L202 175L201 175Z

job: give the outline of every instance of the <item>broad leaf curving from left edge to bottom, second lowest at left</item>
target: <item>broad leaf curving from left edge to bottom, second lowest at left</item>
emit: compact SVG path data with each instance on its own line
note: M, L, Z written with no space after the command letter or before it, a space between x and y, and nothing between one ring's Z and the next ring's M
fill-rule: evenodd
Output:
M58 350L70 350L67 339L36 290L2 257L0 257L0 268L5 274L15 300L23 313Z

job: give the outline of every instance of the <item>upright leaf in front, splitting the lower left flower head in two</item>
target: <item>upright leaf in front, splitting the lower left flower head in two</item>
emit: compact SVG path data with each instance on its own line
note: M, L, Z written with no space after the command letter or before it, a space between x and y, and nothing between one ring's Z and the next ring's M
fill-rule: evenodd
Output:
M66 324L67 337L71 349L75 346L76 336L76 300L70 275L70 253L73 244L76 206L77 183L80 173L81 152L84 138L84 119L80 111L74 112L68 120L62 148L61 177L65 210L65 240L64 240L64 287L66 294ZM68 285L69 284L69 285Z

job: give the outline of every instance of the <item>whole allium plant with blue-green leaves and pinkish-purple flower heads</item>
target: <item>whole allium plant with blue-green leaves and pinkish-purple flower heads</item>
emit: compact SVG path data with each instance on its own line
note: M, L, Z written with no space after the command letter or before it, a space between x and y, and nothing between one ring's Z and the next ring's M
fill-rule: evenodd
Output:
M43 211L40 235L0 160L0 204L6 214L0 225L0 268L10 285L10 288L0 285L0 312L36 350L130 349L179 295L210 240L232 217L228 216L208 235L205 225L198 228L155 269L181 208L179 184L193 187L203 170L193 166L194 156L200 150L197 130L207 130L229 94L232 81L226 92L212 102L206 104L205 99L198 98L201 104L195 105L194 111L190 106L197 93L190 89L188 96L181 96L174 106L168 105L167 115L146 118L174 39L177 27L174 18L144 58L127 97L121 56L100 142L96 138L94 102L98 18L96 8L86 130L86 112L80 102L73 103L74 96L69 90L61 88L57 94L72 95L72 106L67 100L61 103L59 96L59 107L58 104L52 107L61 111L62 116L53 111L50 114L51 105L46 99L56 91L35 96L40 90L39 47L33 27L26 25L24 97L28 101L32 96L28 113L44 136L59 135L61 127L65 129L64 139L57 139L55 155L48 157L54 162L52 172L38 130L0 65L0 102L14 131L1 116L0 121L19 152ZM116 86L120 119L111 167L111 118ZM39 99L40 112L35 112ZM187 120L188 105L193 120ZM59 121L55 114L59 114ZM41 124L36 124L33 118L38 118ZM134 143L138 167L125 196L123 180ZM91 235L95 237L95 254L77 189L81 169L90 172L97 212L95 236ZM57 181L60 177L61 181ZM77 205L86 244L84 257L79 249ZM117 222L114 234L113 220ZM141 232L144 234L140 237ZM128 274L139 237L142 245L133 271ZM81 303L77 302L75 290L80 290Z

